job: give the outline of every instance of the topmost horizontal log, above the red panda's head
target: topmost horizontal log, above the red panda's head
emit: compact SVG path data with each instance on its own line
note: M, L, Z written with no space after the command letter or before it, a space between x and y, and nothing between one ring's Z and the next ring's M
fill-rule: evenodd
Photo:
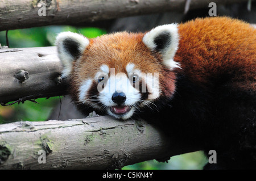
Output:
M51 24L76 24L126 16L153 14L166 11L184 11L187 0L3 0L0 4L0 31L47 26ZM192 0L189 9L208 8L211 0ZM215 0L217 5L247 0ZM46 16L38 12L43 3ZM42 9L41 9L42 10ZM42 12L42 11L40 11Z

